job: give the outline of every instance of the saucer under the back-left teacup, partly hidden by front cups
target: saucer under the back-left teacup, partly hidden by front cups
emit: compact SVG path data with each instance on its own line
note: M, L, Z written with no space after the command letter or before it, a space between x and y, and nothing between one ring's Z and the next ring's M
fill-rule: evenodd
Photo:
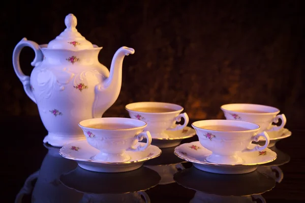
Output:
M151 135L153 141L151 144L159 148L171 148L178 146L182 139L190 138L196 135L196 131L191 127L185 127L182 130L165 131L166 137L154 137Z

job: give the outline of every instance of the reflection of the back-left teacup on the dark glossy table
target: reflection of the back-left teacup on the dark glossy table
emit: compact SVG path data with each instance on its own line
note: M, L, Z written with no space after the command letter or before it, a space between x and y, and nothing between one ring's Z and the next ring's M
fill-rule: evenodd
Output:
M174 183L174 174L178 170L183 170L185 167L181 163L168 164L168 165L145 165L145 167L153 169L159 173L161 180L160 185Z

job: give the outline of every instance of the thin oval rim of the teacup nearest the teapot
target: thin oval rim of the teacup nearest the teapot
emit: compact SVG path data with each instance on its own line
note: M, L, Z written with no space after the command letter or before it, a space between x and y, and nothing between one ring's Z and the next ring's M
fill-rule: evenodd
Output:
M90 127L87 127L87 126L84 126L82 123L84 122L89 122L89 121L98 121L98 120L113 120L113 121L118 121L117 124L121 124L120 121L123 121L123 120L129 120L129 121L132 121L132 122L138 122L138 123L142 123L143 125L141 126L138 126L138 127L133 127L133 128L123 128L123 129L101 129L101 128L90 128ZM114 123L114 122L113 122ZM127 131L127 130L136 130L136 129L141 129L141 128L145 128L147 126L147 123L144 122L144 121L140 121L140 120L137 120L137 119L131 119L131 118L120 118L120 117L105 117L105 118L95 118L95 119L86 119L86 120L83 120L83 121L80 121L78 123L78 126L81 127L81 128L87 128L87 129L91 129L91 130L105 130L105 131Z

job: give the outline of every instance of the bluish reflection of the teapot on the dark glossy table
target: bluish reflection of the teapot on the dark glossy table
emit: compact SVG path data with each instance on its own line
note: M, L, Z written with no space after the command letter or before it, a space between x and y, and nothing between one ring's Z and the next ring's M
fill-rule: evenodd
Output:
M69 189L62 185L59 176L63 172L68 172L75 167L77 163L68 160L59 155L59 149L47 146L48 153L45 156L41 168L27 178L23 188L18 193L15 202L22 202L24 194L32 192L31 183L37 179L33 192L32 202L77 202L83 194Z

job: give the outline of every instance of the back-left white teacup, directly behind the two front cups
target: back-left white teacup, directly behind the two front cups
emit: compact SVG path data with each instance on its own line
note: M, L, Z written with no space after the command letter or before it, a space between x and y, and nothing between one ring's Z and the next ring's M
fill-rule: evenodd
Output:
M189 123L187 113L181 113L184 108L177 104L163 102L136 102L126 105L130 118L145 121L145 130L151 133L152 137L167 137L167 130L176 131L184 129ZM176 125L184 118L183 125Z

